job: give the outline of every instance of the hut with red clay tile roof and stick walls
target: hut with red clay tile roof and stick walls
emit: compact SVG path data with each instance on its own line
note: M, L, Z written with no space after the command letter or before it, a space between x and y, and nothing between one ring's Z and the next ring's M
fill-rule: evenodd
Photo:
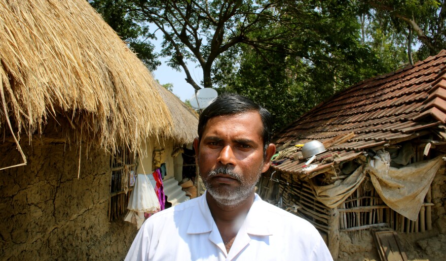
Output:
M445 93L445 50L342 91L276 134L261 192L313 223L335 259L365 251L351 240L364 231L446 233ZM312 140L326 151L306 166Z

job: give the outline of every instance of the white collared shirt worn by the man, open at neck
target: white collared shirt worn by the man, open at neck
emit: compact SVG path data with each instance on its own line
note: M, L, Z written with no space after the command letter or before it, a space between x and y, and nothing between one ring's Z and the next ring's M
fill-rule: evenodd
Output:
M257 194L227 253L205 196L148 218L125 260L332 260L312 224Z

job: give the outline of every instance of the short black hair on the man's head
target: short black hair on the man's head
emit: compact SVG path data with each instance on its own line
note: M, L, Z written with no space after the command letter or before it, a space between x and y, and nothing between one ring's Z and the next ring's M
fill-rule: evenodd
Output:
M262 118L263 131L262 139L264 144L264 155L271 142L271 130L273 127L273 119L270 112L262 106L249 100L247 97L238 94L222 94L206 108L200 115L198 121L198 140L201 141L204 128L209 119L217 116L233 115L246 112L258 112Z

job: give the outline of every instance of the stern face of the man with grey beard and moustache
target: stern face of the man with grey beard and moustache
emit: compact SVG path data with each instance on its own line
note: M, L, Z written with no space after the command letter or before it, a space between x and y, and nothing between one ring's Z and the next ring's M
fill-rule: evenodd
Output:
M195 140L200 175L217 203L239 205L268 170L275 146L268 146L264 160L262 130L257 112L218 116L207 122L200 144Z

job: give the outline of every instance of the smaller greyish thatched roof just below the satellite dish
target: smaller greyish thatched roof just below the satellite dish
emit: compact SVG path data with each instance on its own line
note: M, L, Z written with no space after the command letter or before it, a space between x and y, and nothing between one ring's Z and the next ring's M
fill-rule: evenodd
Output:
M161 96L170 110L173 120L172 137L178 143L191 143L198 137L198 115L185 105L175 94L158 84Z

